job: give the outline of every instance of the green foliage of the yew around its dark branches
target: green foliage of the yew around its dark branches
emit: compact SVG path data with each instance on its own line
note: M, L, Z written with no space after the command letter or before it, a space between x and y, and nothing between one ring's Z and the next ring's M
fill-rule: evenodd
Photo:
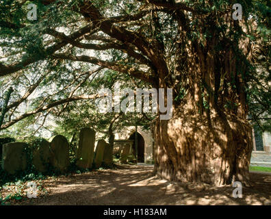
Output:
M61 32L68 36L77 31L79 28L88 25L88 21L83 18L83 14L79 13L79 8L86 3L83 0L76 1L55 1L49 5L42 4L42 1L12 1L5 0L0 5L0 46L3 53L7 56L4 60L5 64L12 64L18 60L27 60L34 57L36 62L23 68L23 72L18 75L10 75L0 79L0 93L3 94L8 90L9 86L14 87L14 93L11 102L21 99L22 90L27 90L31 85L36 83L41 77L39 86L36 88L38 95L31 96L31 99L23 101L21 107L13 108L7 112L4 125L8 123L10 118L17 118L23 113L31 112L40 105L47 105L54 101L60 101L68 98L74 92L76 95L95 94L101 88L112 89L116 81L121 81L122 85L130 88L142 88L151 86L139 79L131 78L129 74L118 73L113 70L101 70L95 75L87 75L90 70L95 69L93 64L74 62L70 60L54 60L51 57L51 46L59 43L59 38L53 40L46 34L47 29L58 28ZM29 21L27 19L27 4L34 2L38 5L38 20ZM170 1L168 1L169 3ZM145 10L146 5L143 2L133 0L95 0L93 5L99 9L101 14L107 18L115 16L133 15ZM165 60L170 70L170 75L166 78L169 84L177 83L175 89L175 102L182 103L188 92L188 85L185 84L190 76L185 68L187 58L185 55L185 47L188 44L198 43L199 47L208 51L209 44L216 40L214 48L210 50L216 51L216 74L220 74L221 63L219 56L228 49L233 49L235 57L237 57L236 68L238 75L241 75L246 88L246 102L249 107L252 123L260 125L264 131L271 130L270 120L261 120L259 118L270 117L270 1L240 1L243 8L244 25L250 30L244 33L237 21L229 26L229 20L226 20L224 14L231 11L233 1L183 1L189 8L194 9L194 13L185 12L185 18L188 18L187 29L181 29L179 32L179 23L182 22L178 18L182 18L181 14L177 16L170 10L159 10L146 14L144 18L138 21L130 21L122 23L123 28L128 31L134 31L138 36L142 36L148 42L157 42L157 47L161 47L161 53L164 53ZM198 15L199 14L199 15ZM255 22L252 22L255 21ZM120 23L115 23L121 26ZM21 27L23 25L23 27ZM257 29L253 29L253 25L257 25ZM96 33L97 34L97 33ZM99 32L101 36L106 34ZM186 34L181 37L181 34ZM259 51L253 55L253 60L248 62L244 57L238 44L240 40L248 39L251 43L260 45ZM80 39L81 40L81 39ZM83 42L79 41L79 42ZM181 42L181 43L177 43ZM94 43L86 40L86 43ZM104 43L104 42L102 42ZM120 42L118 42L120 43ZM226 48L226 43L229 45ZM99 42L101 44L101 42ZM180 48L181 47L181 48ZM192 46L191 46L192 47ZM125 66L138 68L142 66L134 57L130 57L123 49L107 49L105 51L94 51L81 49L77 47L64 47L59 49L57 53L67 53L72 55L90 55L107 60L109 62L118 62ZM137 49L136 52L141 53ZM22 54L21 56L17 55ZM181 60L177 60L177 53ZM146 54L143 54L146 56ZM182 57L183 56L183 57ZM2 60L1 60L2 62ZM177 66L179 62L179 66ZM243 72L241 68L246 65ZM144 68L145 70L145 68ZM146 70L147 71L147 70ZM176 72L181 72L177 75ZM237 94L240 84L237 83L235 77L229 80L224 79L221 75L221 81L216 81L216 90L207 88L205 81L198 81L198 86L203 86L203 94L201 101L205 110L209 109L208 95L214 94L215 99L222 96L223 92L231 90L233 94ZM79 86L79 88L77 88ZM76 88L76 89L75 89ZM222 89L223 90L220 90ZM236 97L236 96L235 96ZM237 105L234 98L225 100L221 105L222 110L226 112L235 110ZM24 109L24 110L22 110ZM77 133L82 127L94 127L94 129L106 132L109 124L116 114L99 114L96 112L96 102L92 100L76 101L75 103L65 103L57 105L53 110L45 110L38 114L28 116L24 120L19 121L3 133L12 133L13 136L20 140L26 140L35 137L44 137L62 134L70 139L71 149L70 155L75 154L75 146L77 142ZM49 115L49 116L48 116ZM51 118L51 123L42 125L43 118ZM114 132L122 131L125 125L140 123L148 128L151 120L155 115L148 114L149 120L144 115L125 114L114 123ZM140 118L139 118L140 117ZM47 119L48 120L48 119ZM53 122L56 123L52 125ZM41 125L41 126L39 126ZM108 134L105 133L104 138ZM46 137L47 138L47 137Z

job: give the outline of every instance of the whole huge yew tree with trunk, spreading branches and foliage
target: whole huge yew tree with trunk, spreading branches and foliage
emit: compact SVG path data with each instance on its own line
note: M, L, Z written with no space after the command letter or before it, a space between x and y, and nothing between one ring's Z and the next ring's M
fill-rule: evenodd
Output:
M47 120L70 136L84 125L110 133L115 122L118 131L155 123L157 174L247 181L247 118L270 131L270 120L262 119L271 115L270 1L240 1L240 20L232 16L236 2L223 0L0 3L3 133L53 129ZM97 90L117 81L172 88L173 118L99 114Z

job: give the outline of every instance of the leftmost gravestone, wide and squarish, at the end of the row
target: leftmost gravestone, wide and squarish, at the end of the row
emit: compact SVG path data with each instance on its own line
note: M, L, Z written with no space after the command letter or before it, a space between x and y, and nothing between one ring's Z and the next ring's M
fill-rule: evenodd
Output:
M23 142L11 142L3 144L2 168L10 174L27 168L27 144Z

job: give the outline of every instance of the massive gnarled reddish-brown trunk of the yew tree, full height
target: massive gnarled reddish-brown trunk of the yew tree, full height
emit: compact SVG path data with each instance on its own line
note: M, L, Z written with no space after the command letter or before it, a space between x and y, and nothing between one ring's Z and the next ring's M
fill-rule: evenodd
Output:
M253 143L246 120L246 68L231 49L218 53L214 39L205 48L192 43L187 55L180 55L179 82L159 83L172 85L175 96L172 118L156 121L154 172L168 180L248 186ZM176 101L181 88L186 93Z

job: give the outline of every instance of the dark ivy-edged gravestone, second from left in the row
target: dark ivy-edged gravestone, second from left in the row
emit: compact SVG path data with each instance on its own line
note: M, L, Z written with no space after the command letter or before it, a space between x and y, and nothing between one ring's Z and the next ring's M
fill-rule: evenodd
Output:
M33 164L39 172L47 172L51 158L50 143L42 139L33 152Z

